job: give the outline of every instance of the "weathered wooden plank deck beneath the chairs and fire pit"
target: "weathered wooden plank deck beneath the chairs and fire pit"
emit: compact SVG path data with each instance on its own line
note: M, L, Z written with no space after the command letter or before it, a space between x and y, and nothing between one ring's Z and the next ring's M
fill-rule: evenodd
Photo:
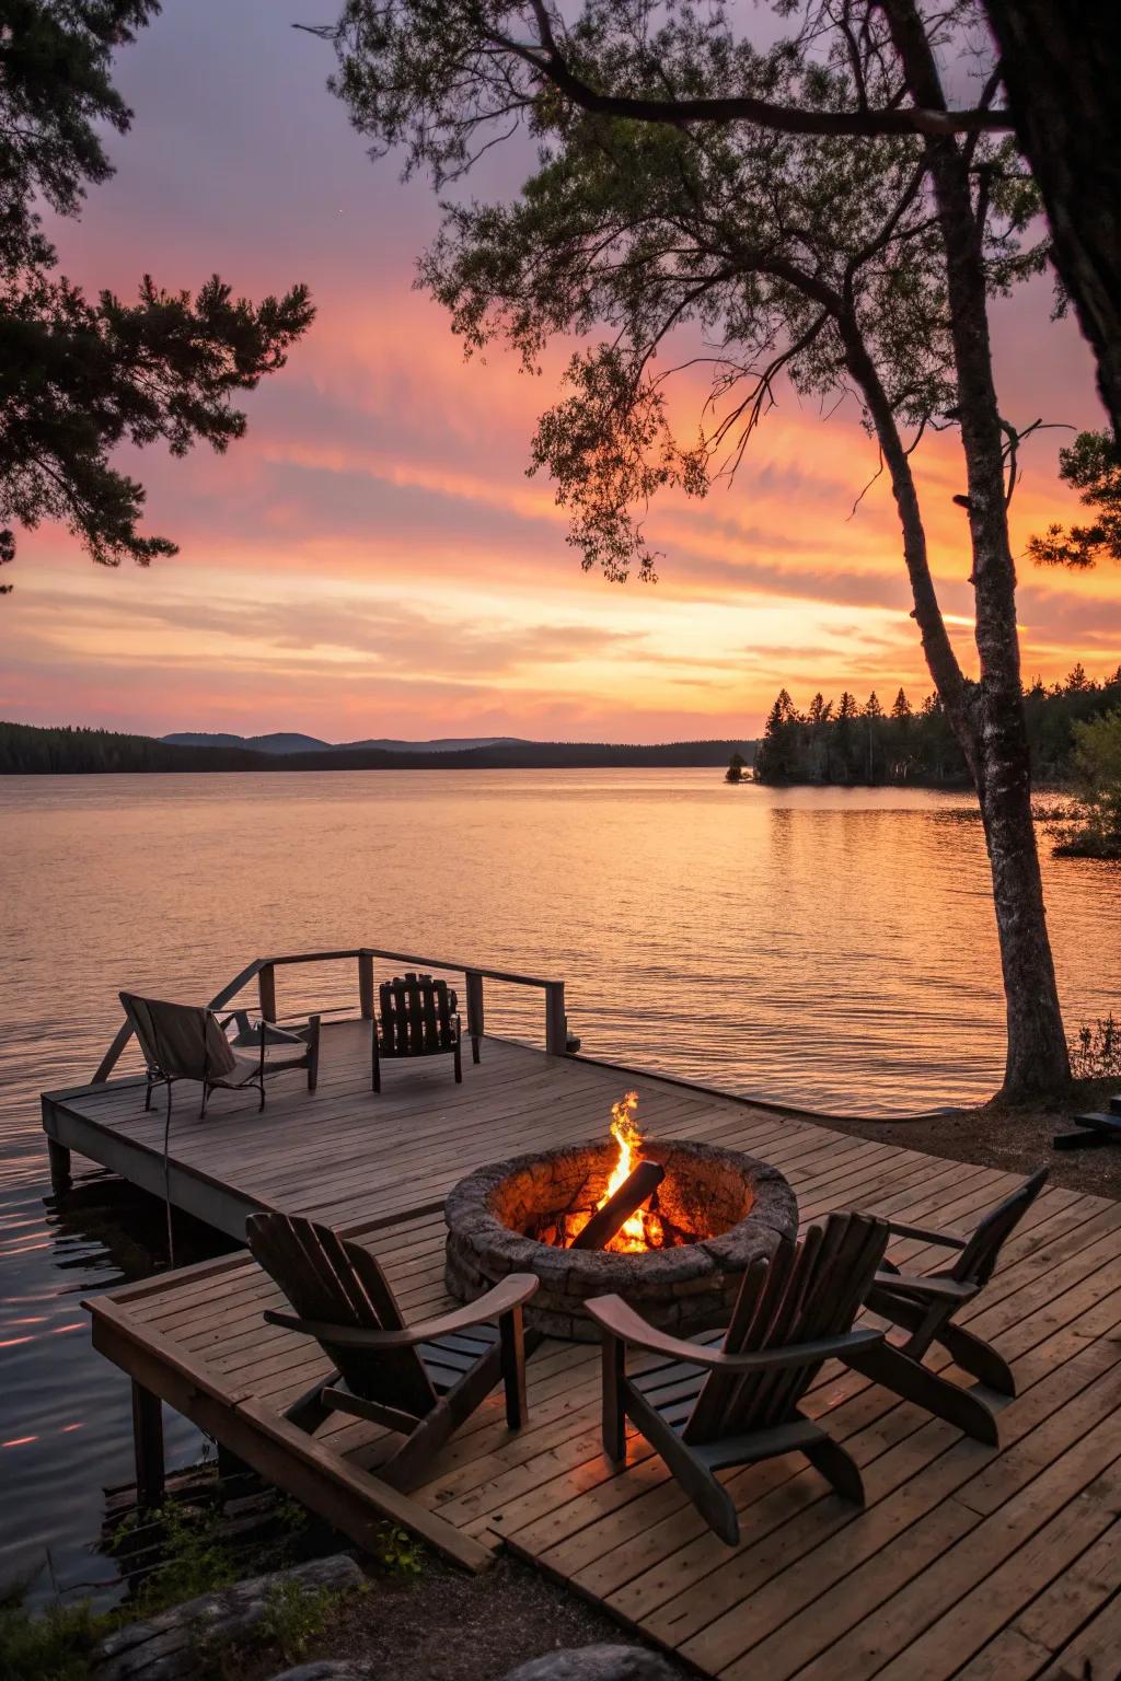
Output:
M264 1115L224 1096L171 1135L173 1197L225 1230L259 1207L366 1232L410 1316L444 1304L440 1199L472 1165L602 1131L640 1091L650 1133L775 1162L803 1220L837 1207L968 1227L1013 1178L573 1057L486 1041L464 1084L397 1066L375 1099L368 1027L324 1035L314 1098L282 1076ZM291 1084L284 1088L284 1079ZM114 1083L44 1101L54 1136L161 1190L161 1120ZM892 1249L934 1264L914 1242ZM741 1543L709 1535L639 1439L625 1471L598 1442L598 1353L546 1341L529 1424L492 1397L408 1496L378 1479L383 1434L338 1417L313 1439L284 1405L319 1372L306 1340L266 1326L272 1286L245 1256L91 1303L94 1341L264 1476L358 1541L382 1516L462 1563L501 1547L729 1681L1113 1681L1121 1647L1121 1205L1049 1190L1008 1242L971 1321L1012 1362L1002 1449L963 1439L866 1380L827 1368L810 1410L864 1469L855 1511L797 1459L729 1476Z

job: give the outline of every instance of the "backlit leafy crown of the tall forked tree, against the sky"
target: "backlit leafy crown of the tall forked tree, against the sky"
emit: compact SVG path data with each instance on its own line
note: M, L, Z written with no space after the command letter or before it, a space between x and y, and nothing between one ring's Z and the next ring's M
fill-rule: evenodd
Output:
M788 32L763 49L736 34L733 8L694 0L348 0L319 30L351 121L375 153L400 150L407 171L440 185L519 124L536 138L514 202L444 205L420 279L467 351L506 341L536 372L553 338L580 341L529 471L551 474L583 565L617 582L655 575L649 503L734 474L780 377L815 400L855 393L881 440L884 429L918 440L955 414L923 141L830 133L837 113L908 103L882 12L778 10ZM934 54L975 15L923 7ZM575 82L607 104L587 109ZM800 113L813 133L634 121L625 106L721 97ZM971 136L970 151L987 282L1003 292L1044 261L1025 237L1035 195L1008 141ZM682 432L671 392L686 370L708 393Z

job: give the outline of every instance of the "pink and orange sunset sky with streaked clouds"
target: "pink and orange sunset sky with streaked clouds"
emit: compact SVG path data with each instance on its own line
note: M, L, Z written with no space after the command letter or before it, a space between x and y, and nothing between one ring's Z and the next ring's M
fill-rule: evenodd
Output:
M494 351L464 363L412 289L437 210L371 163L324 89L329 49L289 27L326 0L165 0L118 59L134 108L116 178L55 230L62 269L131 294L148 269L218 271L257 298L306 281L318 319L249 398L229 456L128 461L146 530L182 553L94 566L64 531L20 536L0 602L0 716L170 730L304 730L328 740L484 735L659 741L755 735L776 689L929 688L908 617L886 481L855 405L787 395L731 489L666 504L654 587L585 577L551 487L524 466L553 395ZM509 182L509 166L506 170ZM479 183L489 190L496 182ZM1040 282L997 311L1003 412L1101 424L1089 356ZM1025 449L1013 536L1069 509L1064 434ZM918 457L945 609L971 652L958 444ZM1121 573L1020 568L1025 672L1121 659Z

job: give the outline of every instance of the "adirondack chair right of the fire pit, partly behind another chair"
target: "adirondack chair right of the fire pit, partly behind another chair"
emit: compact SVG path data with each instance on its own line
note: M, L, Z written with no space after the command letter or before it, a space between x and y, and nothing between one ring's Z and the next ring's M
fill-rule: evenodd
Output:
M953 1320L993 1276L1005 1241L1047 1183L1047 1172L1042 1167L1025 1178L1010 1197L985 1215L970 1237L951 1237L948 1232L889 1220L892 1236L956 1249L958 1257L948 1269L928 1276L904 1274L886 1261L872 1281L867 1306L909 1335L904 1343L884 1340L872 1348L859 1348L842 1357L847 1365L882 1383L884 1389L918 1402L919 1407L993 1447L1000 1446L997 1419L982 1397L931 1372L923 1365L923 1358L931 1343L939 1343L963 1372L1000 1395L1015 1395L1015 1378L1008 1362L975 1331L963 1330Z

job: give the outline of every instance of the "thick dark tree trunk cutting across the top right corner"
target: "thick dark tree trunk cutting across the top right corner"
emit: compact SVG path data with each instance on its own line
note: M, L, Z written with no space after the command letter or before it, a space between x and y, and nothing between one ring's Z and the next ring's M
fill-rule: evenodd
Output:
M1054 264L1121 442L1121 7L985 0L985 10L1017 140L1047 207Z

